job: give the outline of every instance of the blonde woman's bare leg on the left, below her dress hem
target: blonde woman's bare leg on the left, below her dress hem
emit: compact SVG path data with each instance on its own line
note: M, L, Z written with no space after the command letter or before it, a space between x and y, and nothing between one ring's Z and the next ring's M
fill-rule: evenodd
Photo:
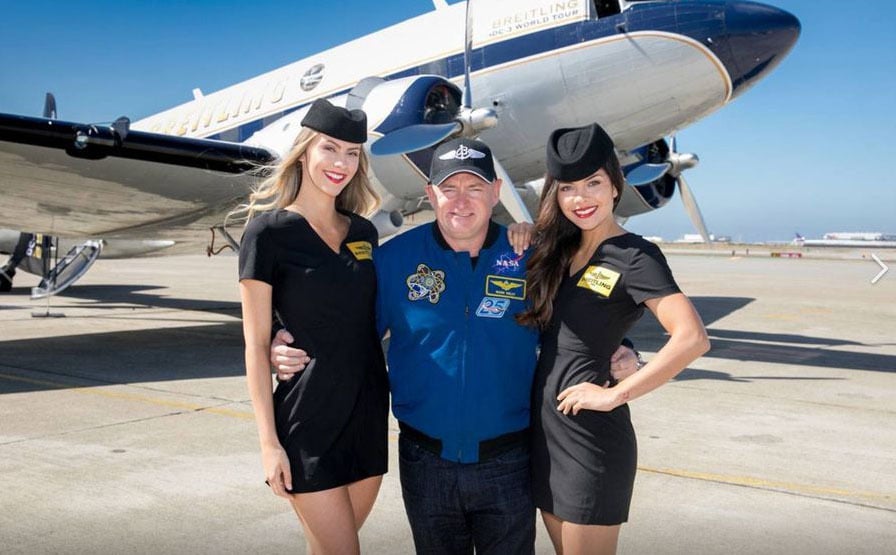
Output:
M292 507L302 522L309 555L358 555L358 527L349 487L292 496Z

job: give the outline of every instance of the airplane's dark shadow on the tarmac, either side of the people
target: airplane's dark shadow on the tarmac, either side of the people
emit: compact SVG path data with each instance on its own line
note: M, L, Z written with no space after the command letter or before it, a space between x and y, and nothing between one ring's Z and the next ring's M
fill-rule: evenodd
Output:
M72 319L71 335L0 342L0 373L16 369L48 376L41 380L2 379L0 394L17 391L241 376L243 341L239 303L196 301L161 297L145 291L152 286L85 286L77 296L94 299L97 309L119 305L145 305L178 310L197 310L234 316L223 323L202 323L188 327L83 334ZM76 295L71 295L76 296ZM896 357L873 353L834 351L824 347L863 346L854 341L799 334L719 329L713 326L725 316L753 302L746 297L694 297L692 299L707 324L712 339L713 358L807 367L843 368L894 372ZM182 320L179 320L182 323ZM652 314L629 334L644 351L657 351L667 336ZM705 364L705 362L698 364ZM39 375L25 372L16 375ZM820 380L807 375L737 376L712 368L689 368L677 380L724 380L749 382L763 379ZM54 385L56 384L56 385ZM59 385L63 384L63 385Z

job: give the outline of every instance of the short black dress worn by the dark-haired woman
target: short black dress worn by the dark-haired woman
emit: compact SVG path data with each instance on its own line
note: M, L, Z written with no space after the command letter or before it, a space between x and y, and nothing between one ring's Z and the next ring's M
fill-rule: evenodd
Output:
M532 491L540 509L577 524L628 520L637 465L628 405L564 415L557 395L611 380L610 357L643 302L677 292L659 248L632 233L607 239L563 279L532 390Z

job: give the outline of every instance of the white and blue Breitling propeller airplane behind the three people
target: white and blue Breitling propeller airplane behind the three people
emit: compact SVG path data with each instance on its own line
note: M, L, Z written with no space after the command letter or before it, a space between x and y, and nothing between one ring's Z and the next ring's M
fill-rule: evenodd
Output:
M49 94L42 118L0 113L0 252L11 253L0 290L20 265L44 278L33 296L52 295L102 251L158 249L171 242L153 239L175 228L207 236L209 221L236 246L222 224L257 179L247 170L285 153L321 97L368 114L381 235L426 206L435 146L459 134L492 147L510 184L504 217L530 219L548 133L597 121L626 174L618 217L656 210L678 188L708 236L682 176L697 157L666 137L743 94L800 32L793 15L745 1L433 4L215 93L194 90L191 101L138 121L63 121Z

